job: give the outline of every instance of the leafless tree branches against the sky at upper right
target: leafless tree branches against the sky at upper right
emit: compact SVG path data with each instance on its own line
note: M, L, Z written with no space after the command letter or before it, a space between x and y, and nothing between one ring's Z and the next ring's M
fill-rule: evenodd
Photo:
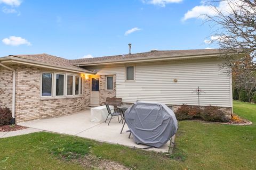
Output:
M205 21L215 28L215 43L226 51L223 67L233 68L235 62L245 60L241 55L246 54L250 54L252 61L255 61L256 1L217 0L208 3L214 14L205 14ZM220 7L219 3L225 4L225 7Z

